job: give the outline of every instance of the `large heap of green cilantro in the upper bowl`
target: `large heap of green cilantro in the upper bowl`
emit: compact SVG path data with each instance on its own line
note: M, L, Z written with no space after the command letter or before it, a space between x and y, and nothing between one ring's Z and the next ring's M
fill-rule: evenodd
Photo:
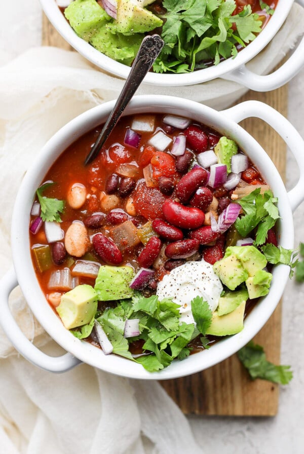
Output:
M155 72L188 72L210 61L236 57L239 47L255 39L262 21L249 5L236 15L235 0L164 0L165 46Z

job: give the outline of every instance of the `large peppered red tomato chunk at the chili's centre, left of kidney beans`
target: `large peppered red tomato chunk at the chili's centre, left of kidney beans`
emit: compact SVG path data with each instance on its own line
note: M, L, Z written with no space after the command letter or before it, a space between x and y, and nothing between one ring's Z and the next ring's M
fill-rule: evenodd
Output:
M132 194L136 213L146 219L163 219L163 204L167 199L156 187L148 187L140 182Z

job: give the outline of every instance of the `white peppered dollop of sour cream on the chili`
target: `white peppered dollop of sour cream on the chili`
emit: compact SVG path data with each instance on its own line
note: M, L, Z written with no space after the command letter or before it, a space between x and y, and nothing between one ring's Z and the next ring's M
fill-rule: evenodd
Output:
M196 296L202 296L208 302L211 311L215 311L223 290L213 267L205 260L189 261L175 268L164 276L157 287L159 299L172 298L180 305L180 321L194 323L191 301Z

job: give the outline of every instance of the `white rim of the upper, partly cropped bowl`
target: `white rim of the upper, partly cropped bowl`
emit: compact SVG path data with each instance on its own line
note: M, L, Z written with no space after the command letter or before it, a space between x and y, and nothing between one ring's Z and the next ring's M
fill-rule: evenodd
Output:
M87 58L100 69L107 71L109 74L116 75L126 79L130 72L130 67L119 63L101 52L94 49L89 43L72 30L63 14L59 10L55 0L40 0L41 6L61 36L83 57ZM199 69L194 72L181 74L156 74L149 72L143 83L159 86L181 86L194 85L211 81L239 68L255 57L265 46L267 46L286 20L294 0L278 0L277 7L269 23L258 34L256 39L246 48L238 53L235 59L229 58L220 62L217 66L211 66L205 69Z

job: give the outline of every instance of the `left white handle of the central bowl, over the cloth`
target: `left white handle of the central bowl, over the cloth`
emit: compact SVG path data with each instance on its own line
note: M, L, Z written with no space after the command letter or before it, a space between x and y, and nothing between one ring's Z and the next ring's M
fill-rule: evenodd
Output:
M14 268L11 268L0 281L0 324L13 346L24 358L49 372L66 372L81 363L70 353L62 356L48 356L35 347L17 325L9 307L9 295L18 285Z

